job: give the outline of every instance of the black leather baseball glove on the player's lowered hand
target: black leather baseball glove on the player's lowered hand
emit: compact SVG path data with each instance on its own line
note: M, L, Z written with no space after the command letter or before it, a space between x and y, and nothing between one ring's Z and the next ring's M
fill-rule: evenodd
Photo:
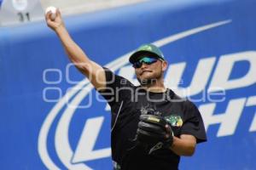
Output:
M170 148L173 142L172 127L162 116L141 115L136 139L139 144L149 148L149 154L160 148Z

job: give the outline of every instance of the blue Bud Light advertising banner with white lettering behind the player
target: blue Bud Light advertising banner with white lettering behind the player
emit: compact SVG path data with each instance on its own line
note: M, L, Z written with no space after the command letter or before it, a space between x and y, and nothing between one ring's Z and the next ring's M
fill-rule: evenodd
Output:
M149 1L65 18L90 59L137 84L130 54L153 43L165 83L198 106L206 143L180 169L256 167L256 2ZM113 169L110 108L44 21L0 28L0 168Z

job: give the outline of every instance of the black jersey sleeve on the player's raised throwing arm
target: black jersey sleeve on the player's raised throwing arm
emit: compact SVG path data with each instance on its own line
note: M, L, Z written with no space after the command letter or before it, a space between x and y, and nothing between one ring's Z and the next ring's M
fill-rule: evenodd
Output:
M133 84L124 77L115 75L113 71L110 71L108 68L103 67L103 69L106 75L106 89L99 90L99 93L102 94L108 104L114 108L127 97L127 93L125 92L128 91Z

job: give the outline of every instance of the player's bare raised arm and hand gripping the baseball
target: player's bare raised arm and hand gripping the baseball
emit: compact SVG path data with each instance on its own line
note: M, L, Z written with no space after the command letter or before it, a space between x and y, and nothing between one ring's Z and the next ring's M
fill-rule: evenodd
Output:
M73 41L72 37L70 37L61 18L60 10L57 9L55 14L55 20L51 20L50 15L50 12L45 14L47 26L55 31L56 35L60 38L68 58L79 69L80 72L88 77L88 79L96 89L105 88L105 71L103 70L101 65L96 64L86 54L84 54L84 51L79 48L79 45Z

